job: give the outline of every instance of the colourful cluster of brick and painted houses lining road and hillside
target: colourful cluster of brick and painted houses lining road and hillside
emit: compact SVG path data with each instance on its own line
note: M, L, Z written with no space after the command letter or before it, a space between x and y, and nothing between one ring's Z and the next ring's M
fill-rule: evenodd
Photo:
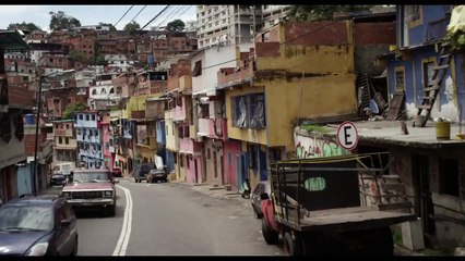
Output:
M1 200L44 189L69 161L130 177L159 156L172 181L241 191L266 181L273 160L389 151L425 241L465 246L464 65L441 51L453 9L281 21L202 48L195 32L0 32ZM96 47L106 65L70 55L93 60ZM439 94L425 98L433 79ZM436 102L418 126L425 99ZM450 120L449 139L437 117ZM344 121L358 129L353 151L337 142Z

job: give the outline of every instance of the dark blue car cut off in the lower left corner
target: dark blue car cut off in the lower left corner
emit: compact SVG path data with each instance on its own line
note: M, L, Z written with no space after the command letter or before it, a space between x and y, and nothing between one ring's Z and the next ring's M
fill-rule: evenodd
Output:
M0 256L75 256L76 217L63 197L13 199L0 208Z

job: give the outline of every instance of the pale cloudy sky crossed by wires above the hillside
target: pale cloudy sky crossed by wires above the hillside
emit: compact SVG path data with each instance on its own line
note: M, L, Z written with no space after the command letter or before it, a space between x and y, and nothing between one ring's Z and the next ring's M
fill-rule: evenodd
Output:
M132 7L132 8L131 8ZM145 8L144 8L145 7ZM122 29L124 25L134 21L143 27L159 11L166 8L166 4L107 4L107 5L2 5L0 4L0 29L5 29L13 23L34 23L43 30L49 30L51 15L49 12L64 12L65 15L72 16L81 22L81 25L98 25L100 22L117 24L117 29ZM130 9L131 8L131 9ZM138 15L139 13L139 15ZM170 5L164 14L155 18L144 29L152 26L164 26L174 20L181 20L184 23L195 21L195 5Z

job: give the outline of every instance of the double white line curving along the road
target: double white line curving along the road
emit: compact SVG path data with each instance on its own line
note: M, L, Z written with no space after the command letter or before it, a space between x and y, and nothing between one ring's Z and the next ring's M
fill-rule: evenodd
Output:
M132 197L131 191L120 185L116 185L121 188L126 195L126 209L124 219L122 221L121 234L119 236L117 246L112 256L124 256L126 249L128 248L129 237L131 236L131 224L132 224Z

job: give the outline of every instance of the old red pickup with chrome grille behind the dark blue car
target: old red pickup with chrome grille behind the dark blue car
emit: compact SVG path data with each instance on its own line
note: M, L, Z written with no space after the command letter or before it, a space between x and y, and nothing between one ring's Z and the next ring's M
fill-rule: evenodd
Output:
M75 169L61 195L74 209L98 209L114 216L117 207L115 179L107 169Z

